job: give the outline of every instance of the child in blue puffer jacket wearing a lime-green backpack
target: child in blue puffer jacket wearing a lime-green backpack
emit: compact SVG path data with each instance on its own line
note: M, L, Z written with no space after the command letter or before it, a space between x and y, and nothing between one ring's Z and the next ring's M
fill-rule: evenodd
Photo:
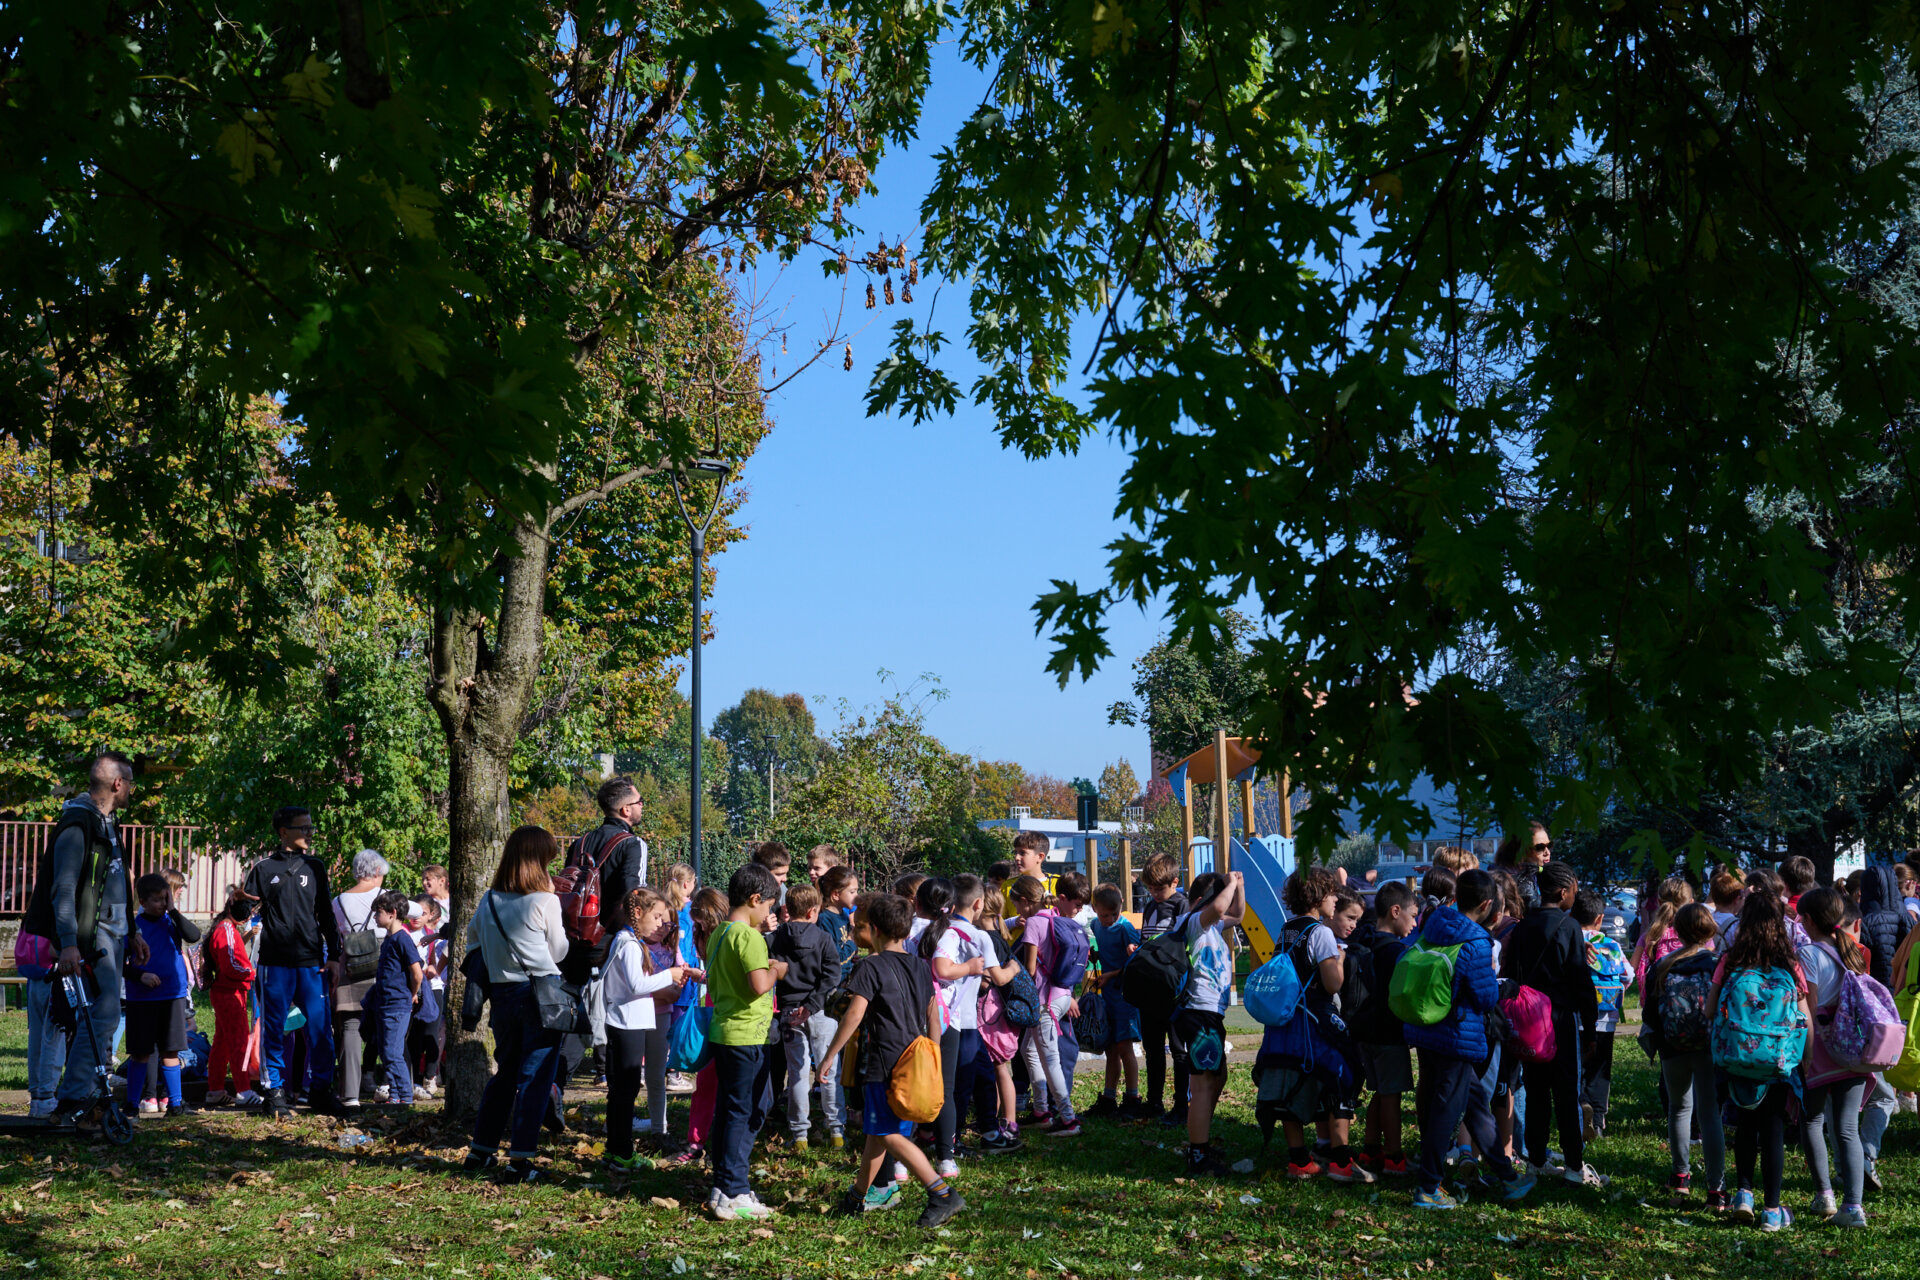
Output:
M1532 1174L1513 1167L1494 1132L1494 1111L1480 1084L1490 1046L1486 1015L1500 1004L1494 977L1494 938L1486 921L1500 890L1486 871L1463 871L1453 887L1453 906L1432 910L1413 935L1415 948L1459 946L1453 960L1453 1006L1438 1023L1407 1023L1407 1044L1421 1057L1421 1176L1413 1192L1415 1209L1457 1209L1459 1201L1440 1186L1442 1161L1461 1121L1488 1161L1501 1199L1521 1199L1534 1188ZM1409 952L1411 954L1411 952ZM1402 963L1407 963L1402 958Z

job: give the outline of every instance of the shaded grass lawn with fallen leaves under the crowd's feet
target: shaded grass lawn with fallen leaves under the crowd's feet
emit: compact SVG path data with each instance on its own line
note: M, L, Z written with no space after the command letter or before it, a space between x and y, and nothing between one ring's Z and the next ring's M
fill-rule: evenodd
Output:
M0 1017L15 1055L21 1015ZM1091 1063L1098 1071L1098 1063ZM1083 1073L1083 1084L1092 1073ZM1081 1100L1092 1092L1083 1088ZM146 1123L131 1148L0 1138L0 1276L1054 1276L1505 1278L1920 1274L1914 1117L1882 1159L1889 1192L1870 1230L1803 1219L1763 1236L1703 1209L1661 1203L1665 1121L1653 1073L1620 1044L1613 1132L1594 1163L1609 1192L1544 1186L1519 1209L1469 1205L1415 1215L1405 1182L1336 1188L1275 1180L1260 1153L1252 1086L1235 1067L1217 1136L1261 1173L1177 1178L1179 1138L1158 1126L1089 1126L1079 1140L975 1159L958 1180L972 1211L941 1232L914 1226L922 1196L868 1219L828 1217L851 1157L756 1153L755 1182L785 1211L766 1226L705 1221L697 1173L609 1176L586 1140L551 1150L549 1186L495 1188L453 1171L463 1132L434 1113L369 1119L371 1146L342 1125L242 1115ZM582 1128L599 1096L584 1092ZM23 1103L19 1105L23 1109ZM684 1100L674 1128L684 1132ZM1788 1203L1805 1205L1805 1161L1788 1151Z

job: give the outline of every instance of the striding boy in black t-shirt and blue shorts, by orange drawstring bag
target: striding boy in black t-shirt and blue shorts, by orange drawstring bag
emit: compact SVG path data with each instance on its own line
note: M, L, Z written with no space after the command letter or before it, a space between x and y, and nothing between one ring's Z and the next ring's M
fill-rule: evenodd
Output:
M929 1029L937 1034L933 969L925 960L906 950L906 933L914 925L914 908L906 898L874 894L860 908L856 925L868 931L879 950L854 965L847 977L847 992L852 1000L847 1004L833 1044L816 1071L818 1082L826 1086L828 1063L839 1059L841 1050L847 1048L856 1031L866 1032L860 1044L866 1150L860 1151L860 1174L841 1201L841 1211L874 1213L899 1207L900 1188L897 1184L874 1186L879 1167L891 1157L906 1165L927 1188L927 1207L920 1215L920 1224L939 1226L966 1209L966 1201L960 1192L947 1186L947 1178L935 1174L925 1151L914 1144L912 1121L902 1121L887 1105L887 1080L906 1046L927 1034ZM849 1088L849 1092L852 1090Z

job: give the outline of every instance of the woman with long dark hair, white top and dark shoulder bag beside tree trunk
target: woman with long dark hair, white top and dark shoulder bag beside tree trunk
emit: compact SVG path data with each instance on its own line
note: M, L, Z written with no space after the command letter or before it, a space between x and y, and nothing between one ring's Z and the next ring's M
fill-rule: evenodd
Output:
M467 925L467 950L486 960L493 1061L499 1067L480 1096L467 1153L472 1173L499 1165L499 1140L511 1123L507 1182L534 1182L540 1126L561 1069L559 1031L540 1025L534 979L559 977L566 960L561 900L547 867L561 856L545 827L520 827L507 837L493 887Z

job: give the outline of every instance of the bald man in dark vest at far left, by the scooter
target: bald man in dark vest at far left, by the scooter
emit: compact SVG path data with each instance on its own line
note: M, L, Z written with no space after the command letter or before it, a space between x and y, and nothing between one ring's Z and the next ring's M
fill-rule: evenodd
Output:
M102 752L86 791L67 800L46 841L33 879L21 931L46 938L58 952L54 973L90 969L100 990L88 1021L94 1034L75 1036L52 1125L75 1125L94 1096L94 1054L111 1054L121 1013L121 963L146 963L146 942L132 925L132 879L119 842L115 810L132 800L132 760Z

